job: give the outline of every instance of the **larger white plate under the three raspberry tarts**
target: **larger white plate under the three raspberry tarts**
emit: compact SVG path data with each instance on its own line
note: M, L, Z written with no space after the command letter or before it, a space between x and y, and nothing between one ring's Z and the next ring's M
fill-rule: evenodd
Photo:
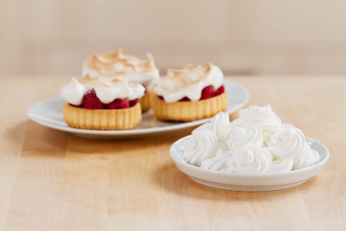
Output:
M232 113L248 101L248 91L242 86L232 81L226 80L224 83L226 92L228 92L227 112ZM28 117L48 128L71 132L79 137L93 139L121 139L134 137L147 137L152 135L163 135L170 132L176 132L201 123L206 123L210 119L201 119L192 122L167 122L160 121L154 117L152 110L143 113L142 121L132 130L86 130L69 127L62 116L62 106L64 100L60 96L46 99L35 103L28 109Z

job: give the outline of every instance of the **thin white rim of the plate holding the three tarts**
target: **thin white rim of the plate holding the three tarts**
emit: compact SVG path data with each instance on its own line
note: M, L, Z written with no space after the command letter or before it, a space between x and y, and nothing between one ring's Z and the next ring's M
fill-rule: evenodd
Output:
M239 89L242 89L242 92L244 92L245 99L242 102L237 103L235 108L230 108L226 112L229 114L236 112L240 108L242 108L250 99L250 94L248 92L248 89L244 87L243 85L240 85L239 83L235 83L233 80L224 80L224 83L228 83L230 85L234 85ZM211 118L206 119L199 119L197 121L190 121L190 122L183 122L183 123L177 123L170 126L163 126L163 127L154 127L154 128L134 128L131 130L89 130L89 129L80 129L80 128L71 128L67 126L67 124L64 121L54 121L52 120L49 122L49 118L42 117L39 114L35 114L32 112L33 108L37 107L37 105L42 104L44 101L49 101L53 99L61 98L61 96L52 96L47 99L44 99L42 101L38 101L37 103L34 103L31 105L28 110L26 110L26 114L35 123L38 123L42 126L46 126L48 128L53 128L56 130L62 130L65 132L71 132L73 134L84 134L84 135L99 135L99 136L113 136L113 137L129 137L129 136L136 136L136 135L152 135L152 134L161 134L163 132L173 132L176 130L183 130L185 128L190 128L193 126L200 125L202 123L206 123L210 121ZM147 112L145 112L147 113ZM59 124L59 123L64 123Z

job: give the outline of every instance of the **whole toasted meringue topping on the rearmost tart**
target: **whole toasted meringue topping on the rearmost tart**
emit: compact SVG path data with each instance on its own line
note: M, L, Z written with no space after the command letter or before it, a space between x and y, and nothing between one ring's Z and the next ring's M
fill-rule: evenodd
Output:
M82 75L89 75L93 78L127 78L129 82L140 83L149 90L160 78L154 58L150 53L147 53L145 60L141 60L135 56L123 54L122 49L105 52L101 55L92 53L84 61Z

